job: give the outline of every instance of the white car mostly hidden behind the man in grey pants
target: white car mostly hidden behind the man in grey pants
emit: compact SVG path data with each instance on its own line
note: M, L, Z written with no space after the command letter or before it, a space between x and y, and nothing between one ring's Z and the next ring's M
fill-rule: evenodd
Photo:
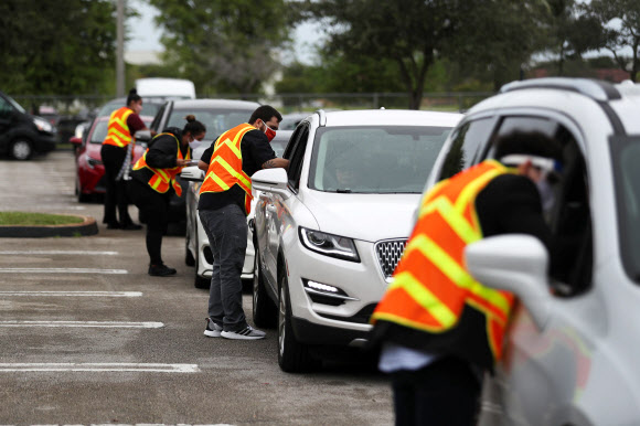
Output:
M247 117L248 119L249 117ZM285 148L289 142L291 136L291 130L278 130L276 137L271 140L271 148L276 152L276 157L281 157L285 152ZM200 158L206 147L198 148L193 157ZM211 253L211 247L209 245L209 237L204 232L204 227L200 222L200 216L198 215L198 202L200 200L200 187L204 180L204 172L198 167L190 167L183 169L183 177L189 175L189 190L186 193L186 239L185 239L185 257L184 262L188 266L194 266L194 286L196 288L209 288L211 285L211 274L213 270L213 254ZM253 227L254 227L254 216L257 193L254 191L254 202L252 203L252 212L247 216L247 249L245 254L245 263L242 271L242 279L245 283L245 287L250 288L254 279L254 238L253 238Z

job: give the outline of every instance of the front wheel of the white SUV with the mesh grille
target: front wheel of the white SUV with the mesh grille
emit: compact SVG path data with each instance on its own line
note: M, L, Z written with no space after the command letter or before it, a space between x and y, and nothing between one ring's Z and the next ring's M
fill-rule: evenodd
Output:
M281 274L278 303L278 365L287 373L302 373L314 366L307 344L298 342L291 326L291 299L287 276Z

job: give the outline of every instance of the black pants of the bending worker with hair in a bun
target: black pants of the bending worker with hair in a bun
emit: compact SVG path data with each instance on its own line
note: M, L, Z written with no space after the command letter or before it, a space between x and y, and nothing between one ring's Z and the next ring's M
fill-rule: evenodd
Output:
M169 225L171 191L162 194L137 179L127 181L127 194L147 221L147 253L151 265L162 265L162 235Z

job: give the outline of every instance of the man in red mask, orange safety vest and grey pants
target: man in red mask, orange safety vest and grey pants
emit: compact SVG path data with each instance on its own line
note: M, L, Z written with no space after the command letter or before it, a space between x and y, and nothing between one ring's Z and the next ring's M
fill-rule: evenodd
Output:
M258 107L248 124L222 134L198 164L205 171L198 210L214 258L204 330L207 337L265 337L246 321L241 275L247 247L246 216L253 199L250 175L260 169L289 167L289 161L276 158L269 146L281 120L274 107Z

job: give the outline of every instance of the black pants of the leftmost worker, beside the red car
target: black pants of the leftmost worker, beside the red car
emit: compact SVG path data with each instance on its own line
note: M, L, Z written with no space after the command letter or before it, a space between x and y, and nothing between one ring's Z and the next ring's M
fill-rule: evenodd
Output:
M116 181L116 177L122 168L125 157L127 156L126 148L118 148L113 145L103 145L100 149L103 164L105 164L105 178L107 179L107 193L105 194L105 215L103 223L110 225L126 226L132 223L129 216L128 205L129 199L125 188L125 181ZM118 217L116 217L116 206L118 207Z

